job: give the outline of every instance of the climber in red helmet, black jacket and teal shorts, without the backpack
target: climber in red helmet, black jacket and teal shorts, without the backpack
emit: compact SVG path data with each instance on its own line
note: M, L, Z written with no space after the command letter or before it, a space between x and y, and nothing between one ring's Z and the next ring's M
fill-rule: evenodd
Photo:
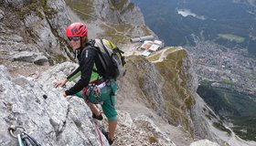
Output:
M73 48L74 56L79 60L79 68L74 70L69 77L59 80L54 87L63 87L77 74L80 80L70 89L60 91L64 97L75 95L85 99L91 109L92 118L102 120L101 111L95 107L95 103L101 103L103 113L108 118L109 132L103 133L110 144L113 142L114 131L117 125L117 112L115 110L115 91L117 85L114 79L102 78L102 65L96 50L88 39L88 29L82 23L72 23L66 29L69 46Z

